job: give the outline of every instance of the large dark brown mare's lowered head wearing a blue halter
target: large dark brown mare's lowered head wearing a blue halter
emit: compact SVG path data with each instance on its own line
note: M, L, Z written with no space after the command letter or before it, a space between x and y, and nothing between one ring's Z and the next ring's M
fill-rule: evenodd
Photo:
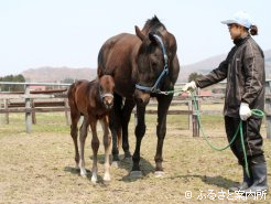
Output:
M136 26L136 33L142 43L137 56L134 99L139 105L147 105L151 94L166 88L163 80L169 77L176 55L176 40L156 17L148 20L142 31Z

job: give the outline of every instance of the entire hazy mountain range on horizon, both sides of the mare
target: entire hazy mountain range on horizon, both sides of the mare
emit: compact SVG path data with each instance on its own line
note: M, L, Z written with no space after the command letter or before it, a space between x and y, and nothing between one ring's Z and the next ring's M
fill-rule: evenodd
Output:
M267 78L271 78L271 50L264 52ZM187 82L191 73L207 74L226 58L226 54L213 56L204 61L183 65L177 82ZM97 76L96 68L40 67L30 68L22 73L28 82L61 82L67 78L91 80Z

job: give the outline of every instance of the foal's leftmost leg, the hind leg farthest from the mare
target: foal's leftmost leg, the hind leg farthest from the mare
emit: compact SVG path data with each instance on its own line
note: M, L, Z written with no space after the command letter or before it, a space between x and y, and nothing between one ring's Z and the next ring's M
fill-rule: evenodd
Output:
M72 119L71 136L74 140L74 147L75 147L75 168L78 169L79 151L78 151L78 142L77 142L77 137L78 137L77 124L78 120L80 119L80 114L74 107L71 107L71 119Z

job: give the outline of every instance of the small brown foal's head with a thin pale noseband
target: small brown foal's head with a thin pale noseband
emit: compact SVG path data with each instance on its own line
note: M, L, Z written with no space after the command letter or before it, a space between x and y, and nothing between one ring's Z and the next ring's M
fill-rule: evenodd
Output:
M113 105L113 78L110 75L104 75L99 78L99 95L106 109L112 108Z

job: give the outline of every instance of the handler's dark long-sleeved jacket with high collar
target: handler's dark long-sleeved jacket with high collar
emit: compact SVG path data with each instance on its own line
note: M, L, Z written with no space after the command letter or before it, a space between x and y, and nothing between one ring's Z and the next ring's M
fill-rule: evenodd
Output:
M241 103L249 104L251 109L264 108L263 52L250 35L235 44L218 68L195 82L197 87L204 88L227 78L224 115L229 117L239 117Z

